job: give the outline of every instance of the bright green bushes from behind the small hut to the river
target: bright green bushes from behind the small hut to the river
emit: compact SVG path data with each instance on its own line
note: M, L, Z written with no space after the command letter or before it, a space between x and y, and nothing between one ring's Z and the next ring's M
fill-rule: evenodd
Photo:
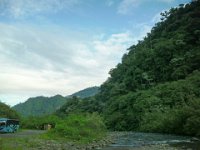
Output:
M52 129L42 136L44 139L90 143L106 135L103 119L96 113L73 113L62 117L31 116L21 119L21 127L24 129L43 130L47 124L50 124Z

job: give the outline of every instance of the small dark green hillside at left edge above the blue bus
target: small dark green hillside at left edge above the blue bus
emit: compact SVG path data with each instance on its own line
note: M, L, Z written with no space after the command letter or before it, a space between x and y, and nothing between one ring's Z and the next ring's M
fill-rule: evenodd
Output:
M8 105L0 102L0 118L19 119L19 115L15 110L11 109Z

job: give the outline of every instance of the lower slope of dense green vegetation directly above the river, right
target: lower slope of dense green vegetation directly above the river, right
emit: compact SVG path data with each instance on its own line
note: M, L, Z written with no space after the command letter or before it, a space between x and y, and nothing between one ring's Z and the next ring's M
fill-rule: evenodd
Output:
M115 130L200 135L200 72L185 80L129 92L107 102L105 120Z

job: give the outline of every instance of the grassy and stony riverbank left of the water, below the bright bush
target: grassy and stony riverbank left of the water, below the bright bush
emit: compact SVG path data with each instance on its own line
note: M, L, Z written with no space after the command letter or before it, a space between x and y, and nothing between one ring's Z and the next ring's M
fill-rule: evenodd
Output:
M101 149L112 144L120 133L108 133L101 140L88 144L78 144L76 141L49 140L42 138L43 131L23 130L14 134L0 134L0 150L92 150Z

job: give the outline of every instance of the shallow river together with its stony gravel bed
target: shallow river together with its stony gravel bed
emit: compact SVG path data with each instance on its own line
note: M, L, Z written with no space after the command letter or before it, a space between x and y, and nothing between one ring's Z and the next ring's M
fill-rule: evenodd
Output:
M110 132L106 138L84 145L54 140L39 141L39 146L33 150L198 150L200 143L194 146L197 140L154 133Z

